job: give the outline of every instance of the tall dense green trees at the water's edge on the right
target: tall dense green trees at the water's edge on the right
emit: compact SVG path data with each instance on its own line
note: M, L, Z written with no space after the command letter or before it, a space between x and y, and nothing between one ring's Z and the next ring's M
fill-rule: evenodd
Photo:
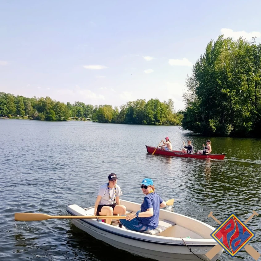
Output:
M182 127L204 135L259 136L261 44L210 41L186 79Z

